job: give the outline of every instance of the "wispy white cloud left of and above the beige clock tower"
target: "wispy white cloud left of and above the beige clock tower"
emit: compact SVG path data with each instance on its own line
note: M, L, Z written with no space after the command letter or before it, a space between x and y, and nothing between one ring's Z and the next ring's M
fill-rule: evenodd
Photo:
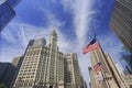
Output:
M56 20L51 12L46 12L46 15L48 19L47 28L35 26L16 20L9 23L8 26L1 32L1 38L4 40L6 45L4 43L1 43L0 61L11 62L14 56L18 56L16 54L24 53L30 40L36 37L45 37L47 40L52 30L58 30L59 26L64 24L64 22Z

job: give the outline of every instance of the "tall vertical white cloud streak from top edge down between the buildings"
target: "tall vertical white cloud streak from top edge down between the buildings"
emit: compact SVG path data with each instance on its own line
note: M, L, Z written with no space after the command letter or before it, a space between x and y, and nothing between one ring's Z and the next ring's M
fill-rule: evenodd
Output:
M74 26L76 34L76 42L72 42L70 48L78 53L79 65L88 82L88 66L90 61L88 55L82 55L82 47L87 44L88 32L90 32L89 22L91 21L95 11L91 10L92 0L62 0L65 11L70 11L74 14Z

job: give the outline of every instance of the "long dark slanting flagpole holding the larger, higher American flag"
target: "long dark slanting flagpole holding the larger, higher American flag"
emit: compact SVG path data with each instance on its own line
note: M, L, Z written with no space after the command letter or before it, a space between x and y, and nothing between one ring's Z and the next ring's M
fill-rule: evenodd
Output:
M95 34L95 38L96 38L96 34ZM98 41L98 42L99 42L99 41ZM106 59L106 62L107 62L107 64L108 64L108 67L110 68L110 72L111 72L111 74L112 74L112 76L113 76L113 78L114 78L114 80L116 80L116 84L118 85L119 88L121 88L120 85L119 85L119 82L118 82L118 79L117 79L117 77L116 77L116 75L114 75L114 73L113 73L113 70L112 70L112 68L111 68L111 66L110 66L110 64L109 64L109 62L108 62L105 53L103 53L103 51L102 51L102 47L101 47L100 43L99 43L99 46L100 46L101 52L102 52L102 55L103 55L103 57L105 57L105 59Z

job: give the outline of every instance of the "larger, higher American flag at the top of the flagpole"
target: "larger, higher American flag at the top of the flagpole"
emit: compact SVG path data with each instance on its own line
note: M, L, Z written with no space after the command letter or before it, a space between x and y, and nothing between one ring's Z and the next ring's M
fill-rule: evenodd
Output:
M94 51L99 46L99 42L97 42L96 37L86 46L82 48L82 53L86 54L90 51Z

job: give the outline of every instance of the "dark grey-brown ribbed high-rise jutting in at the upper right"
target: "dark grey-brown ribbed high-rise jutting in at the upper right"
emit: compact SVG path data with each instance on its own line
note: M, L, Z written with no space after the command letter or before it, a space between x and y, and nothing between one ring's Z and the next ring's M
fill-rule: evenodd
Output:
M116 0L110 26L132 53L132 0Z

